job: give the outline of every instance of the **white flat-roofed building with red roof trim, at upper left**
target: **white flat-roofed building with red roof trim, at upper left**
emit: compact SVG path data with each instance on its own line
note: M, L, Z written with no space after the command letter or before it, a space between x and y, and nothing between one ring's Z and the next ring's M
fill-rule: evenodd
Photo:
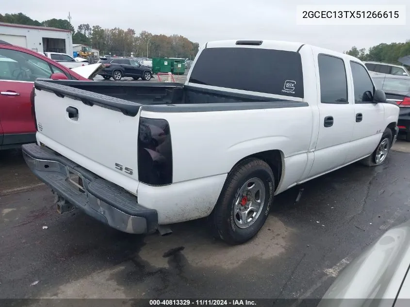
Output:
M38 52L73 54L69 30L0 22L0 40Z

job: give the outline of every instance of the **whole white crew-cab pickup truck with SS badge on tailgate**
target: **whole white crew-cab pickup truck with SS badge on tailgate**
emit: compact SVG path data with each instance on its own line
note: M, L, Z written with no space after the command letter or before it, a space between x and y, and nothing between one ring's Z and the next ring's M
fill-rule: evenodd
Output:
M399 114L354 57L245 40L207 43L185 84L37 80L34 109L24 158L60 212L138 234L209 217L232 244L257 234L274 195L383 163Z

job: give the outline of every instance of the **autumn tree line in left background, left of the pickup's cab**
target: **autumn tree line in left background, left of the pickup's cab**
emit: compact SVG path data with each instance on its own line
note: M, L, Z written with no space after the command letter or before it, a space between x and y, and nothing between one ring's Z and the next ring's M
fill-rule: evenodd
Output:
M120 28L104 29L98 25L90 26L88 23L80 24L75 31L73 25L66 19L52 18L49 20L33 20L23 13L0 14L0 22L15 24L44 26L70 30L73 33L73 44L84 44L100 50L100 54L126 55L147 57L179 57L194 59L198 52L199 44L188 38L173 34L152 34L141 31L139 34L134 29ZM102 54L101 54L102 55Z

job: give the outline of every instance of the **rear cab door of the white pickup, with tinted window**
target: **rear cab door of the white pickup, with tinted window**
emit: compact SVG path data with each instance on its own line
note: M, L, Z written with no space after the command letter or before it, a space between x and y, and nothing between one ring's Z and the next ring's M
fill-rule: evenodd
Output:
M349 99L347 65L337 53L312 48L315 61L319 132L309 178L344 165L354 125L354 106Z

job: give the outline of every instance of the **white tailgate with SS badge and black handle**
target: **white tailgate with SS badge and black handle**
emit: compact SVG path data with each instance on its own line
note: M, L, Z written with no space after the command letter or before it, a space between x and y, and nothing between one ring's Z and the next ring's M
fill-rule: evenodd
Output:
M135 194L141 105L47 81L34 85L37 140Z

